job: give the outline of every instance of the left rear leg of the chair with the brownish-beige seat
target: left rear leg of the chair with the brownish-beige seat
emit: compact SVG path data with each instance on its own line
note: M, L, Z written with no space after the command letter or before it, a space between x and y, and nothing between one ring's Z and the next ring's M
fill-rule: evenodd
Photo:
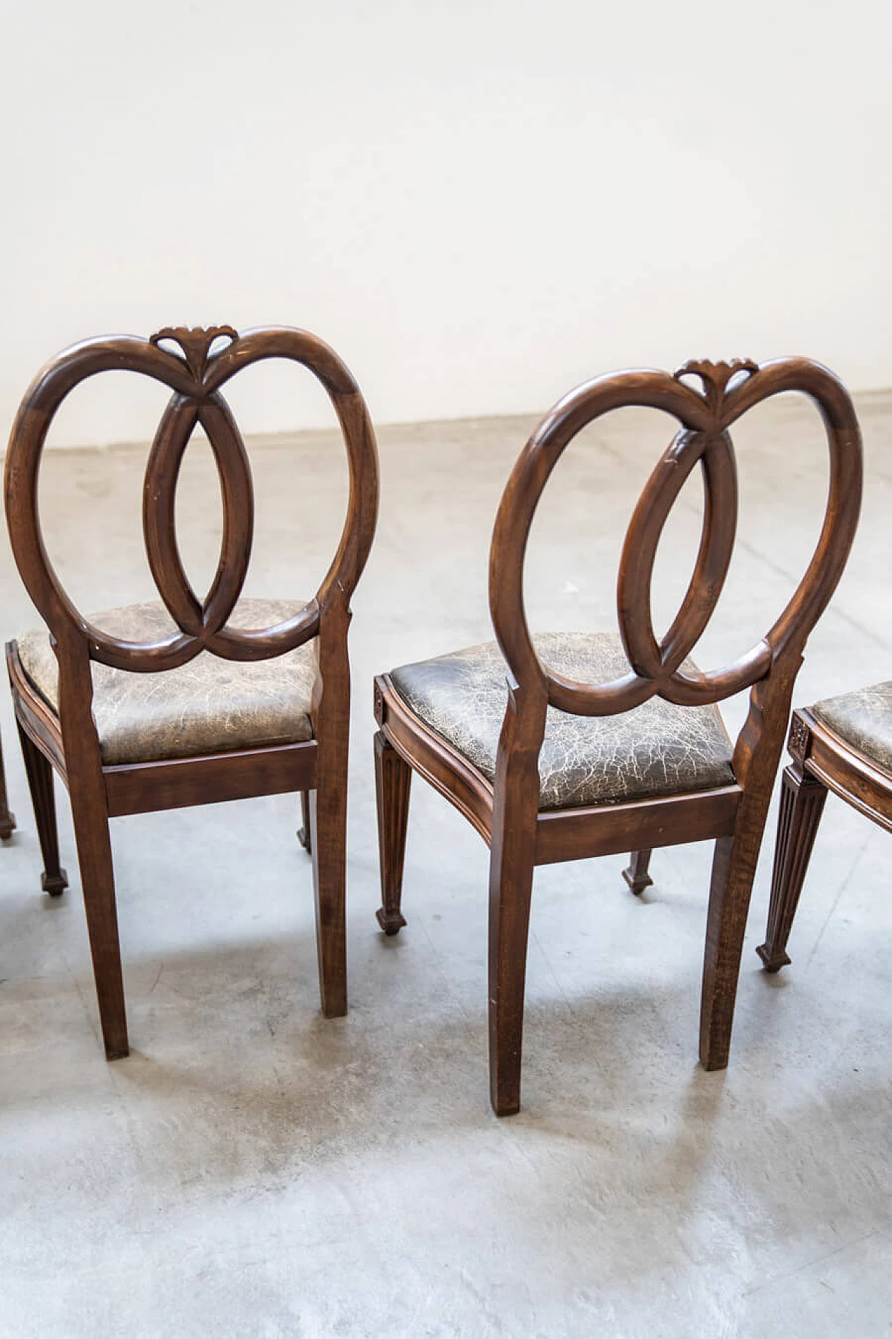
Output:
M130 1054L130 1046L108 814L92 795L79 794L76 785L71 787L71 809L106 1058L118 1060Z

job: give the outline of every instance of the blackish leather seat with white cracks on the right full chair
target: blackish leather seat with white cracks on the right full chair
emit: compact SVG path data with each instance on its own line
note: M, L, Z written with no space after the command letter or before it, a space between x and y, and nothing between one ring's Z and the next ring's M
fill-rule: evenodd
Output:
M629 672L618 636L551 632L534 637L542 661L586 683ZM686 671L695 670L686 660ZM504 719L507 667L495 641L391 672L396 691L488 781ZM574 716L548 707L539 754L540 809L674 795L734 783L732 743L717 707L651 698L615 716Z

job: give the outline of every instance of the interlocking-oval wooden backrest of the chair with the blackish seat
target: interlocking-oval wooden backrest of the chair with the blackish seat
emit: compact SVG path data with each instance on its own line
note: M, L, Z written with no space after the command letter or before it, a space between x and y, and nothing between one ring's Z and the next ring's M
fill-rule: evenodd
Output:
M683 378L698 378L701 390ZM826 428L830 483L821 534L796 592L765 637L733 664L687 674L679 667L701 637L722 590L737 526L737 467L730 426L754 404L784 391L810 396ZM641 494L626 532L617 588L619 632L630 672L612 683L574 682L542 664L523 601L523 565L542 491L564 447L588 423L625 406L663 410L679 424ZM699 462L703 529L694 572L669 632L657 641L650 584L657 545L682 485ZM489 550L489 609L511 671L510 718L528 720L527 743L538 749L546 706L584 716L614 715L659 695L685 706L719 702L753 688L750 715L734 766L744 779L749 755L772 718L789 708L802 648L843 574L861 505L861 435L841 382L808 359L765 363L690 362L675 374L629 371L578 387L546 415L522 451L506 486ZM516 735L516 727L512 726ZM503 730L503 738L506 731ZM781 740L782 742L782 740ZM780 744L777 746L780 753Z

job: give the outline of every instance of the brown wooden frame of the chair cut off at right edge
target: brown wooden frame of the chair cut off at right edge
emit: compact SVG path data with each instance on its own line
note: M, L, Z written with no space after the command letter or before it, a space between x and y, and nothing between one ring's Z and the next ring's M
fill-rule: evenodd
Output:
M782 778L765 943L756 949L769 972L790 961L786 941L828 790L892 832L892 778L808 707L793 712L786 747L793 762Z

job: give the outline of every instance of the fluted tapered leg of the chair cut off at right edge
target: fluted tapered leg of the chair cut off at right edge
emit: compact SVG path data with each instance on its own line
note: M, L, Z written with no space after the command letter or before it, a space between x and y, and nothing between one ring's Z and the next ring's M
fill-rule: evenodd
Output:
M769 972L777 972L789 963L786 940L805 882L825 799L826 787L816 777L802 771L798 763L786 767L781 783L768 928L765 943L756 949Z

